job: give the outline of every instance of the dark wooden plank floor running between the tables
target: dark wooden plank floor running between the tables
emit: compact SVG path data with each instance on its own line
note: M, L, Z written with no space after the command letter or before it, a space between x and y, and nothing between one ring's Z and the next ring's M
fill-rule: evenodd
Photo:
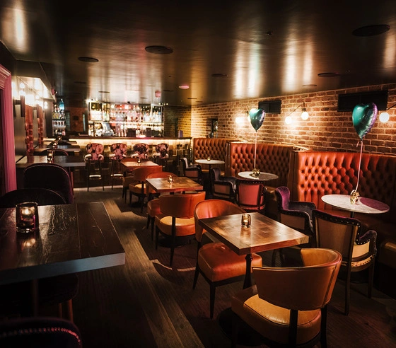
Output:
M76 202L103 201L126 252L124 266L79 274L74 322L83 347L230 347L219 314L242 289L242 282L219 287L214 319L209 319L209 286L201 277L192 289L197 245L155 250L146 229L146 211L129 207L121 187L76 188ZM262 254L264 261L271 255ZM353 284L349 316L342 314L344 283L337 282L329 306L329 347L396 347L396 301L366 284Z

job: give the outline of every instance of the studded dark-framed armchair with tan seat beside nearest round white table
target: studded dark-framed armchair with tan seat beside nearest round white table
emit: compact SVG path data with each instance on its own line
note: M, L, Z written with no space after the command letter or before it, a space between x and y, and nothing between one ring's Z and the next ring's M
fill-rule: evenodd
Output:
M371 298L377 233L373 230L363 232L358 219L327 214L316 209L312 216L317 247L337 250L342 255L342 270L347 272L344 314L348 315L351 272L368 269L368 298Z

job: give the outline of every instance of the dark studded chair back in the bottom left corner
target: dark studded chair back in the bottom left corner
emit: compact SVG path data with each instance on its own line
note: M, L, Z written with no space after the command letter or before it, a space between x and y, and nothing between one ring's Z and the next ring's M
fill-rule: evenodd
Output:
M69 320L16 318L0 322L0 347L81 348L81 333Z

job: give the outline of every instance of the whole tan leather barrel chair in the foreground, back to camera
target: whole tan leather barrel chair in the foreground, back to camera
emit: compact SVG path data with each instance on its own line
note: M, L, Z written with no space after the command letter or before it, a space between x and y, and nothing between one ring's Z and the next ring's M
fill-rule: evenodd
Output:
M301 249L303 267L253 267L256 285L231 299L232 346L247 323L269 347L326 347L327 304L342 255L335 250Z

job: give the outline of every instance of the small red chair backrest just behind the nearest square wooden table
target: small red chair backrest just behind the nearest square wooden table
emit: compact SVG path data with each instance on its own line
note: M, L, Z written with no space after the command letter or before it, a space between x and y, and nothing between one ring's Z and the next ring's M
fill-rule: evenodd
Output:
M236 180L236 203L248 211L262 211L265 208L267 189L260 180Z

